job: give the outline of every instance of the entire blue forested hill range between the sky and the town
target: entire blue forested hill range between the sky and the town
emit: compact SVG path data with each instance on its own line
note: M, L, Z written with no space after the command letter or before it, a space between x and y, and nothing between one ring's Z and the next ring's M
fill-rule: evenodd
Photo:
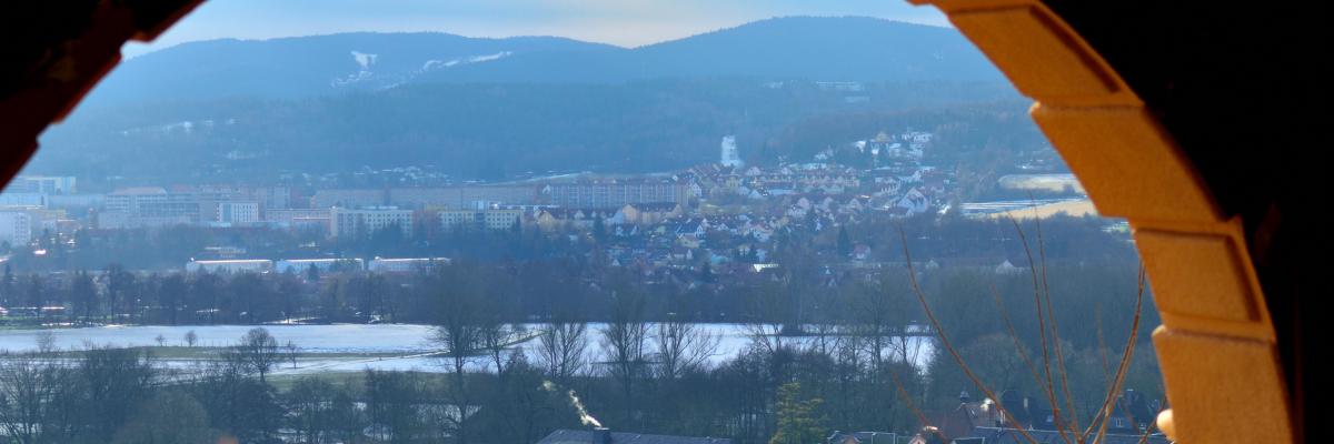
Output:
M866 17L634 49L446 33L219 40L116 68L43 136L29 172L233 181L432 165L495 180L684 168L715 161L724 135L750 163L803 161L944 125L1025 149L1041 137L1023 107L955 29Z

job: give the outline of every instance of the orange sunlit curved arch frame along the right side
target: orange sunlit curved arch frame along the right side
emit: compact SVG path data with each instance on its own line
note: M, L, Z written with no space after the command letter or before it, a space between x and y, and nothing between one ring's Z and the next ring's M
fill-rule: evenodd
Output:
M1163 325L1154 331L1181 443L1290 443L1274 327L1238 217L1119 75L1037 0L910 0L943 11L1021 93L1099 213L1126 217Z

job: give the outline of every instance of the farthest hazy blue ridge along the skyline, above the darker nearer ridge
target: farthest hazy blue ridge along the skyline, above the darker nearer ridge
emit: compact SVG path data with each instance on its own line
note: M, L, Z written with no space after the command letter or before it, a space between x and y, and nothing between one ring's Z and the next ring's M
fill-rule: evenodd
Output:
M560 37L342 33L188 43L131 59L88 105L297 97L408 83L762 77L999 81L956 31L868 17L783 17L635 49Z

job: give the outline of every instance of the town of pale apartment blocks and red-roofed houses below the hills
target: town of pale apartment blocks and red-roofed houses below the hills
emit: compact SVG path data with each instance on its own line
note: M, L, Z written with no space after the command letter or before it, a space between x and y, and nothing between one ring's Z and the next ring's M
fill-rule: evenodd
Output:
M1026 217L1023 211L1062 205L1074 216L1095 215L1078 192L1062 199L960 201L954 169L923 163L931 144L930 132L879 132L820 151L810 161L759 167L744 165L735 137L727 136L718 163L670 173L580 173L379 189L176 184L84 193L76 177L20 176L0 193L0 243L9 252L40 257L53 248L77 248L79 239L105 239L125 229L196 227L215 233L212 239L287 231L315 247L275 253L212 244L189 252L192 261L204 261L211 271L241 271L272 269L276 260L319 260L316 264L325 265L340 259L371 261L375 257L342 257L327 245L379 239L390 231L418 244L439 244L450 236L540 232L571 243L592 239L611 267L652 271L708 263L715 272L727 273L768 264L775 236L791 231L836 233L830 236L840 236L842 259L874 265L899 253L847 239L846 227L950 212L974 219ZM834 160L847 153L862 157L870 168ZM1031 165L1021 165L1025 168ZM1069 188L1073 177L1065 176L1034 175L1066 180ZM155 268L184 267L173 265Z

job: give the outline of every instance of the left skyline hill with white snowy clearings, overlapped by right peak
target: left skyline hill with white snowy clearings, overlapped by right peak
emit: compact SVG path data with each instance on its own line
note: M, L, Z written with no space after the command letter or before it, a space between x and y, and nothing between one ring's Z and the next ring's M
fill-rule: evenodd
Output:
M514 55L624 51L560 37L472 39L448 33L196 41L120 64L85 105L384 89L434 71Z

